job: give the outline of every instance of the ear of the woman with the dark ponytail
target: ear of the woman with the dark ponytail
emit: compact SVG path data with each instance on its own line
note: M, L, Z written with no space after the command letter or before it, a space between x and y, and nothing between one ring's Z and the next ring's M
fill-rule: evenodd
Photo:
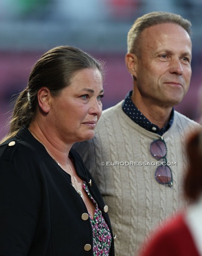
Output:
M41 87L38 91L38 104L44 113L48 113L50 110L51 92L47 87Z

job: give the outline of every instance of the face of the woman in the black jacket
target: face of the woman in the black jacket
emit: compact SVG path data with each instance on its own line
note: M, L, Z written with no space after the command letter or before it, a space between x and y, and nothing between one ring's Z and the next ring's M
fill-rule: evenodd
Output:
M102 114L103 79L98 69L82 69L58 97L51 98L47 122L65 143L89 140ZM54 133L53 133L54 134Z

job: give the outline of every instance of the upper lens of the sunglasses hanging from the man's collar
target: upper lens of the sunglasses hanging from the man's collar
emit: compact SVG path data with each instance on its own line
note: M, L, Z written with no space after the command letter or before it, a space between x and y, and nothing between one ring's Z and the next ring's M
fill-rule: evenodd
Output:
M150 144L150 153L156 159L161 159L166 156L167 149L163 140L155 140Z

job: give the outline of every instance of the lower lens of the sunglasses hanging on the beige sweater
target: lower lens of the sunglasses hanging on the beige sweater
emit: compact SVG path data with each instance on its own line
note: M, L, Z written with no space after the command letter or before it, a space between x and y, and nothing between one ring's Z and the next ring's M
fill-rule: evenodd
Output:
M172 173L171 169L167 165L160 165L156 169L155 178L159 183L171 184L172 186Z

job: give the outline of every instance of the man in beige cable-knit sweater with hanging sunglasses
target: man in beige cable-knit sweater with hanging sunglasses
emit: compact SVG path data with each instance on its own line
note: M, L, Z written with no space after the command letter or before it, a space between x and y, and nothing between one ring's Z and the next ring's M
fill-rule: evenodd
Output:
M191 79L191 23L152 12L128 33L133 90L103 112L94 139L75 145L109 206L116 256L129 256L184 205L186 132L200 127L174 110Z

